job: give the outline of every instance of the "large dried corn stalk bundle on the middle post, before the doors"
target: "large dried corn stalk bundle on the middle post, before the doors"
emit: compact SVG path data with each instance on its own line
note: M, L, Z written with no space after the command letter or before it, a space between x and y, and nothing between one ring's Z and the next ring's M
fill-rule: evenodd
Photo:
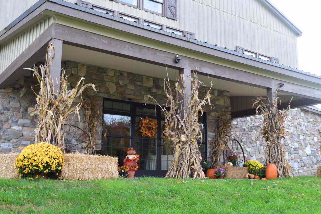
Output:
M198 80L196 70L194 78L190 76L188 78L191 79L189 97L186 97L185 87L181 88L179 84L181 81L182 85L185 85L184 75L180 75L174 90L171 89L169 78L164 79L167 102L165 107L160 107L165 113L166 129L164 134L174 147L173 159L166 174L167 178L204 178L200 162L201 153L197 144L197 140L202 139L198 112L203 114L203 107L206 104L211 105L211 95L207 92L204 98L198 98L198 89L204 85ZM157 103L153 97L149 97ZM182 107L183 102L185 102L185 107Z

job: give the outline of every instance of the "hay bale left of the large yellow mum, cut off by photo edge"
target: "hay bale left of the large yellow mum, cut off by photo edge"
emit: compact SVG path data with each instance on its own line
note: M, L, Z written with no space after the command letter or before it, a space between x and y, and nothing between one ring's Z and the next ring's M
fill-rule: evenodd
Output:
M0 154L0 178L12 179L19 177L18 171L14 167L17 156L17 153Z

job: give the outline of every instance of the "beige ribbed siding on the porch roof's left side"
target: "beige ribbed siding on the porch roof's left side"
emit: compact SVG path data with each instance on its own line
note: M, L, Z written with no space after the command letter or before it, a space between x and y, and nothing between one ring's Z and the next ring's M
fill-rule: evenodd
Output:
M48 17L0 46L0 73L2 73L52 23Z

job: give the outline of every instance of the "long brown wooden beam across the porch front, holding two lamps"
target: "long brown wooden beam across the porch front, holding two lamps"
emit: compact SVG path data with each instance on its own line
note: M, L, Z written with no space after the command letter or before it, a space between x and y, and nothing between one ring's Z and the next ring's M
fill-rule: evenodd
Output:
M168 67L177 70L180 70L181 68L193 70L195 67L199 67L200 70L198 74L206 76L209 75L214 78L238 82L259 88L277 88L281 82L284 82L284 87L282 88L283 92L301 97L318 99L321 101L321 90L272 79L219 64L197 60L187 56L180 56L181 62L175 63L175 53L160 51L150 47L144 47L126 41L108 38L106 36L97 35L56 23L53 25L53 38L63 40L64 44L160 66L165 66L166 64Z

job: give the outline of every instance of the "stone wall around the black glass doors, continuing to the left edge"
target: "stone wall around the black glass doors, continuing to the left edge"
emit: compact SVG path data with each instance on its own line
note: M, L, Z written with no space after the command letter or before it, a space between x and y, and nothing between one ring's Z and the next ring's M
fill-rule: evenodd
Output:
M97 67L77 62L64 62L63 67L67 70L70 87L73 88L81 76L85 77L85 83L96 85L97 93L88 90L84 93L85 99L93 99L97 110L102 114L103 98L130 100L134 102L153 104L147 95L153 96L161 105L165 104L166 96L163 90L163 79L143 76L125 71ZM31 74L31 73L30 73ZM12 84L9 88L0 91L0 152L19 152L24 146L33 143L36 120L28 114L28 109L34 107L36 100L31 87L35 80L32 75L24 76ZM174 86L174 82L172 84ZM200 97L204 96L208 88L200 88ZM35 91L39 91L35 89ZM222 114L224 118L230 118L230 93L211 89L211 104L205 107L207 112L207 141L215 137L215 118ZM82 114L83 110L80 111ZM100 120L102 115L99 116ZM102 121L100 121L101 123ZM83 118L77 121L72 118L71 124L80 128L84 127ZM81 135L76 133L75 138ZM97 143L101 142L101 135L97 134ZM207 151L209 152L209 144Z

